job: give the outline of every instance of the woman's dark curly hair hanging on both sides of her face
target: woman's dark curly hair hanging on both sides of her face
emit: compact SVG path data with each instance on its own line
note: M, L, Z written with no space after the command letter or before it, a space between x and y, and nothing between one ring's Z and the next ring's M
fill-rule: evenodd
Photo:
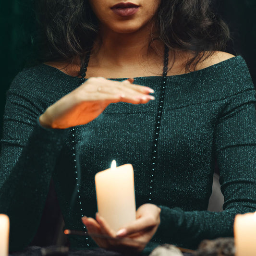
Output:
M40 61L84 59L98 35L98 20L88 0L37 0L40 24ZM161 0L156 13L158 39L169 49L189 51L186 71L224 50L227 25L212 12L210 0ZM150 42L149 42L150 43Z

